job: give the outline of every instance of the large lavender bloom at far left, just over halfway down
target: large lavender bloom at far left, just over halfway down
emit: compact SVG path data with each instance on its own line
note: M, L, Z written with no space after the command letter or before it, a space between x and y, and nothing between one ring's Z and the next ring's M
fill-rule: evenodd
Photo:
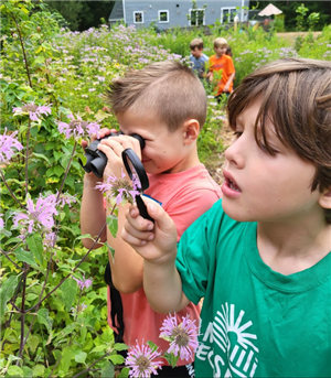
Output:
M13 218L14 227L22 226L22 233L31 234L33 231L50 231L54 226L54 215L56 210L56 196L54 194L47 197L39 196L35 205L28 195L26 210L18 213ZM26 229L28 228L28 229Z

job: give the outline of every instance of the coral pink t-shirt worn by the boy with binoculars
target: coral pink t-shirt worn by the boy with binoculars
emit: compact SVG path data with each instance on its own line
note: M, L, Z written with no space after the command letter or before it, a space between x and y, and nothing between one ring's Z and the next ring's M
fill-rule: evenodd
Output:
M183 231L222 196L221 187L203 164L179 173L149 175L149 183L150 186L145 193L162 203L162 207L175 223L178 240ZM139 344L151 341L164 353L169 348L169 343L159 338L159 335L167 315L156 313L150 307L142 288L131 294L120 293L120 296L125 324L124 342L131 346L136 345L136 341ZM114 328L109 315L111 307L109 288L107 302L108 323ZM190 320L195 320L199 326L200 311L200 305L190 303L177 313L178 323L182 322L182 316L190 314ZM193 358L189 361L180 360L178 365L192 361Z

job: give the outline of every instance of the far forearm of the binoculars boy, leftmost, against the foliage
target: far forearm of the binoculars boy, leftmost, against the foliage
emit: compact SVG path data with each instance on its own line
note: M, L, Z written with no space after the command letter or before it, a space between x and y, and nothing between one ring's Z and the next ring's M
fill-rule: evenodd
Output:
M103 193L98 190L95 190L96 183L99 179L92 175L84 176L84 190L82 198L82 208L81 208L81 231L82 235L89 234L92 237L96 237L105 222L106 222L106 212L104 208L104 196ZM100 241L106 240L106 229L104 230ZM92 239L83 239L83 244L86 248L93 246ZM95 248L100 247L100 245L95 246Z

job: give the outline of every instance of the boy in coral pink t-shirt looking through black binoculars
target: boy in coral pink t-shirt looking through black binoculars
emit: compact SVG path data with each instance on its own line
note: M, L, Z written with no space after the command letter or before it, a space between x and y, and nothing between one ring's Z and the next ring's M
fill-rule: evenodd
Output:
M108 88L107 99L124 136L104 139L99 143L98 149L108 158L104 180L108 175L121 177L121 170L125 170L121 152L127 148L134 149L141 156L148 173L150 186L145 193L162 203L163 209L175 224L179 240L183 231L222 193L197 156L196 140L206 119L203 85L188 66L170 61L159 62L142 69L130 71L114 80ZM109 132L103 130L99 137ZM142 151L137 139L129 137L132 133L145 139ZM93 173L85 174L82 234L98 235L109 214L108 208L113 207L108 199L105 210L103 194L95 190L98 181ZM115 249L114 258L109 255L109 263L113 284L120 292L124 342L135 346L137 341L139 344L151 341L166 352L169 344L159 338L166 316L156 313L145 295L143 259L120 236L127 207L119 206L116 238L109 230L102 236L102 241L107 240ZM83 241L86 248L92 247L92 240ZM108 290L109 310L115 305L110 303L114 290ZM182 316L190 314L190 318L199 324L200 310L199 304L188 303L177 314L178 322L181 323ZM108 321L113 328L119 325L113 323L110 317ZM158 377L193 377L191 363L193 358L180 359L175 368L163 366Z

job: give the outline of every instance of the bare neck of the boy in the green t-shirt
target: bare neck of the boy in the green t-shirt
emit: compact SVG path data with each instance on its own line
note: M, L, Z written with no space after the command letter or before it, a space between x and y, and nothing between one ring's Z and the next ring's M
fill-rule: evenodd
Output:
M319 222L259 223L257 246L263 261L288 276L309 269L331 251L331 225Z

